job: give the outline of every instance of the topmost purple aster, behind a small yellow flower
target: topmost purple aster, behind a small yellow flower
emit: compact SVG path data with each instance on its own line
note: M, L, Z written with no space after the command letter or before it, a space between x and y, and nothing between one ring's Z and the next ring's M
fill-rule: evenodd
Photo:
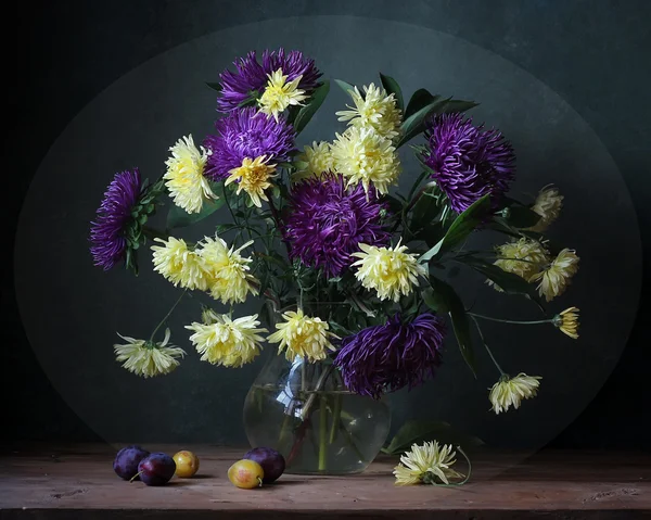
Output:
M298 88L307 92L315 89L321 77L321 73L315 66L315 61L305 58L301 51L285 53L284 49L265 50L261 65L253 51L246 54L246 58L235 60L233 64L237 68L235 72L227 69L219 75L221 91L217 106L221 112L238 109L241 103L250 99L252 93L259 97L267 85L267 75L279 68L290 81L301 76Z

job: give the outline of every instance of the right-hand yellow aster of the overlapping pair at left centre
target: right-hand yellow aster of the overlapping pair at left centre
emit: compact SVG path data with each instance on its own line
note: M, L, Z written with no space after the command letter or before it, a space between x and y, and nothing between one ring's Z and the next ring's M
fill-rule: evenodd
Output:
M196 253L205 263L207 271L207 290L215 300L221 303L242 303L251 292L257 294L255 284L259 281L251 275L252 258L243 257L240 252L248 248L253 241L239 249L228 248L224 239L205 237Z

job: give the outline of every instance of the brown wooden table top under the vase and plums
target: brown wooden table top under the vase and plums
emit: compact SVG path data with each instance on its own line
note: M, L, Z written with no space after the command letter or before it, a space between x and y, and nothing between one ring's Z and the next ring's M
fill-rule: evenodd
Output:
M174 454L179 446L146 446ZM634 519L651 518L651 456L541 452L473 456L471 482L396 487L394 458L352 477L283 475L253 491L227 468L243 449L194 446L201 471L163 487L119 480L107 445L31 446L0 456L1 519Z

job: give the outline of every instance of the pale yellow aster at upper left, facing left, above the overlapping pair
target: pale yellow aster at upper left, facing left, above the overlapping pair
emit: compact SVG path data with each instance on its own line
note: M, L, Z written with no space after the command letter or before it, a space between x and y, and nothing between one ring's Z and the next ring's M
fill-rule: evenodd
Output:
M217 199L203 175L209 152L203 147L200 151L192 136L179 139L169 151L171 156L165 162L167 172L163 176L169 195L186 212L199 213L205 201Z

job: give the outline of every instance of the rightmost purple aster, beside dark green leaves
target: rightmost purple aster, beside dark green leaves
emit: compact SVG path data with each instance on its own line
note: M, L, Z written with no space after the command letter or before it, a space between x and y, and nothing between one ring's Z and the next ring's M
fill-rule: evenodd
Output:
M487 193L501 195L515 172L513 148L500 131L475 127L462 114L433 117L423 161L457 213Z

